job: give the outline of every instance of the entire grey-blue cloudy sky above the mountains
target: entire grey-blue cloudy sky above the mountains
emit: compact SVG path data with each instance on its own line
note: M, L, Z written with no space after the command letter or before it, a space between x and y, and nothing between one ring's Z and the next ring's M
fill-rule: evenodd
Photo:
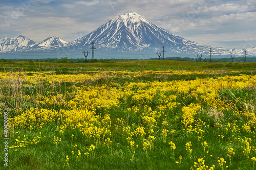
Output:
M255 0L0 0L0 38L73 41L127 12L203 45L256 46Z

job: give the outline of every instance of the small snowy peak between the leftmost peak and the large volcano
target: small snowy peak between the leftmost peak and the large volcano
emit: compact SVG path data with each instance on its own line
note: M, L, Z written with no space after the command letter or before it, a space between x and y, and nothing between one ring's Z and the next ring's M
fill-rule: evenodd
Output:
M68 43L69 42L62 40L59 37L51 36L45 39L44 41L41 41L37 45L40 47L50 48L50 47L62 47L63 45Z

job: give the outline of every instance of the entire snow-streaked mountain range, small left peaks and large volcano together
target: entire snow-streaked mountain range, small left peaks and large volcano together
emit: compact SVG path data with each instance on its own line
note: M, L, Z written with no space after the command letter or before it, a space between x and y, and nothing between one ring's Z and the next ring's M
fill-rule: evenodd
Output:
M166 31L141 15L133 12L118 15L104 25L75 41L67 42L58 37L49 37L36 43L24 36L0 38L0 53L10 52L58 52L89 50L94 42L97 49L108 52L156 53L162 46L168 53L177 55L207 54L228 56L244 53L244 49L225 49L201 45ZM247 54L256 56L256 47L246 49Z

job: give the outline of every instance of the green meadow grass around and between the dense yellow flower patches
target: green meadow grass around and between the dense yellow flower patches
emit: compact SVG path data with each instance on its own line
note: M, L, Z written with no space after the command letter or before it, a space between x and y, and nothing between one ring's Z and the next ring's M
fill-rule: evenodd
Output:
M79 75L79 74L94 74L93 71L107 70L111 74L114 71L118 70L128 70L128 71L144 71L144 70L191 70L191 71L231 71L236 70L238 72L225 72L223 74L192 74L192 75L144 75L135 78L122 77L117 75L117 77L107 77L97 80L88 80L86 83L71 83L71 82L61 82L60 84L55 84L53 87L45 81L38 82L37 85L32 86L33 88L28 88L26 86L20 86L16 90L18 92L23 91L26 95L33 95L36 98L36 94L47 95L47 92L51 92L53 95L58 93L66 96L67 100L71 100L72 96L68 96L69 92L74 91L73 85L82 88L93 88L95 86L103 86L106 84L109 88L118 88L125 87L125 83L148 83L148 82L171 82L171 81L193 81L198 78L213 78L218 79L219 77L225 76L239 76L240 74L245 75L255 75L255 63L199 63L199 62L185 62L185 61L158 61L158 60L141 60L141 61L113 61L113 62L99 62L99 63L87 63L87 64L63 64L63 63L44 63L44 62L5 62L1 64L1 71L56 71L56 75ZM51 74L49 74L51 75ZM29 76L29 75L28 75ZM31 75L32 76L32 75ZM0 94L1 96L1 106L2 111L6 108L16 108L23 107L24 110L29 109L30 107L37 107L34 102L31 101L18 101L18 93L16 95L15 89L12 88L12 84L4 84L5 82L0 80ZM113 84L116 83L116 84ZM11 83L11 81L9 82ZM27 82L22 82L26 84ZM134 91L138 90L138 87L134 87ZM147 89L147 87L144 87ZM124 90L124 89L123 89ZM229 167L227 169L252 169L253 162L250 160L251 157L256 156L256 152L251 150L249 154L250 158L247 159L244 154L242 154L242 142L238 141L238 138L244 139L244 137L251 138L250 145L255 146L256 138L255 134L250 134L244 132L243 125L248 122L250 117L243 115L236 115L233 113L232 109L225 109L220 111L220 108L216 110L207 103L200 103L202 109L197 112L195 119L198 121L201 119L206 125L201 125L200 122L196 122L199 125L200 129L204 130L202 135L190 134L184 130L184 126L181 125L182 119L182 107L188 106L190 103L199 103L195 96L191 94L191 90L188 93L172 93L172 92L163 92L159 89L154 96L152 101L144 101L136 103L130 98L119 99L121 104L118 107L112 107L108 110L96 109L96 114L105 115L110 114L112 125L117 124L117 118L123 118L124 123L119 126L130 126L133 127L133 124L136 126L144 126L147 130L150 128L143 122L141 115L146 112L142 106L149 106L153 111L157 110L161 103L161 95L164 93L166 96L177 95L178 98L173 102L177 102L180 105L174 109L165 109L164 116L160 117L159 127L156 127L153 135L156 137L154 141L154 148L151 152L148 152L148 155L142 149L142 139L140 137L134 137L135 144L139 144L139 147L135 147L134 159L130 160L132 153L130 152L127 146L126 136L120 130L117 130L116 127L112 126L110 129L112 131L112 136L109 136L112 140L110 147L106 147L101 141L101 144L96 144L94 139L86 138L81 134L78 129L67 129L63 134L60 134L57 130L57 126L61 123L56 122L46 125L44 128L34 128L30 130L29 128L25 129L15 129L13 132L9 131L9 143L15 144L15 139L20 137L19 140L24 140L24 135L27 136L28 145L23 148L19 148L18 151L14 149L9 149L8 167L3 165L3 162L0 164L1 169L189 169L194 165L194 162L197 162L199 158L205 157L205 152L201 143L207 141L208 147L207 150L209 153L206 155L205 164L209 167L215 164L215 169L221 169L218 166L219 158L225 158L227 161L226 165ZM12 96L12 98L9 98ZM232 103L236 104L239 111L245 111L245 104L250 104L249 110L255 113L256 106L256 92L255 88L245 87L241 89L222 89L218 93L218 97L223 103ZM3 107L3 103L6 108ZM140 107L140 110L137 113L127 112L127 108L133 106ZM47 109L65 109L65 106L57 105L40 105L39 108ZM219 109L219 110L218 110ZM159 112L159 110L157 110ZM212 114L209 114L209 113ZM14 115L16 113L11 111ZM214 114L215 113L215 114ZM217 114L223 114L216 119ZM178 119L176 119L178 116ZM162 120L166 119L169 125L163 126L161 124ZM220 127L216 127L219 123ZM231 130L226 130L226 125L228 123L236 123L237 128L240 131L232 132ZM4 136L4 119L3 115L0 120L0 136ZM194 125L195 127L197 125ZM232 126L231 126L232 128ZM168 133L166 137L166 142L164 142L161 135L162 129L175 129L175 133ZM134 130L134 129L133 129ZM255 131L255 128L251 127L251 131ZM39 134L41 132L41 134ZM74 135L74 138L71 137ZM223 135L221 138L219 135ZM54 136L61 138L59 144L53 143ZM147 138L148 133L144 136ZM202 138L198 140L198 136ZM30 142L35 137L39 142L31 144ZM175 159L172 158L172 150L168 142L173 141L176 144L175 150ZM191 141L193 152L191 153L191 158L188 157L185 144L186 142ZM1 156L3 159L3 139L0 140ZM227 144L228 143L228 144ZM231 144L230 144L231 143ZM74 147L74 145L77 147ZM88 152L88 148L91 144L96 145L95 156L90 153L90 156L87 157L84 153ZM255 146L256 147L256 146ZM230 161L227 158L227 148L233 148L236 153L232 157L232 166L230 167ZM78 150L81 151L81 157L76 158ZM74 155L72 154L74 151ZM69 164L66 162L66 155L69 156ZM212 156L210 156L212 155ZM182 156L180 162L179 156ZM179 161L180 163L176 163ZM256 165L255 165L256 168Z

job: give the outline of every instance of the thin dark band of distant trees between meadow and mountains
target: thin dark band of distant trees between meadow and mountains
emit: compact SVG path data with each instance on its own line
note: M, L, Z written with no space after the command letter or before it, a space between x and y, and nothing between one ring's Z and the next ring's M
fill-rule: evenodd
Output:
M136 60L136 59L88 59L88 63L92 62L108 62L108 61L125 61L125 60ZM146 60L159 60L159 58L150 58ZM162 60L162 58L160 58ZM176 61L195 61L199 62L199 58L189 58L189 57L166 57L165 60L176 60ZM0 59L0 62L11 62L11 61L34 61L34 62L51 62L51 63L85 63L86 59L77 58L69 59L68 57L57 58L47 58L47 59ZM201 62L210 62L209 58L202 58ZM212 58L211 62L232 62L232 58ZM244 57L235 57L233 62L244 62ZM256 62L256 57L247 57L246 62Z

